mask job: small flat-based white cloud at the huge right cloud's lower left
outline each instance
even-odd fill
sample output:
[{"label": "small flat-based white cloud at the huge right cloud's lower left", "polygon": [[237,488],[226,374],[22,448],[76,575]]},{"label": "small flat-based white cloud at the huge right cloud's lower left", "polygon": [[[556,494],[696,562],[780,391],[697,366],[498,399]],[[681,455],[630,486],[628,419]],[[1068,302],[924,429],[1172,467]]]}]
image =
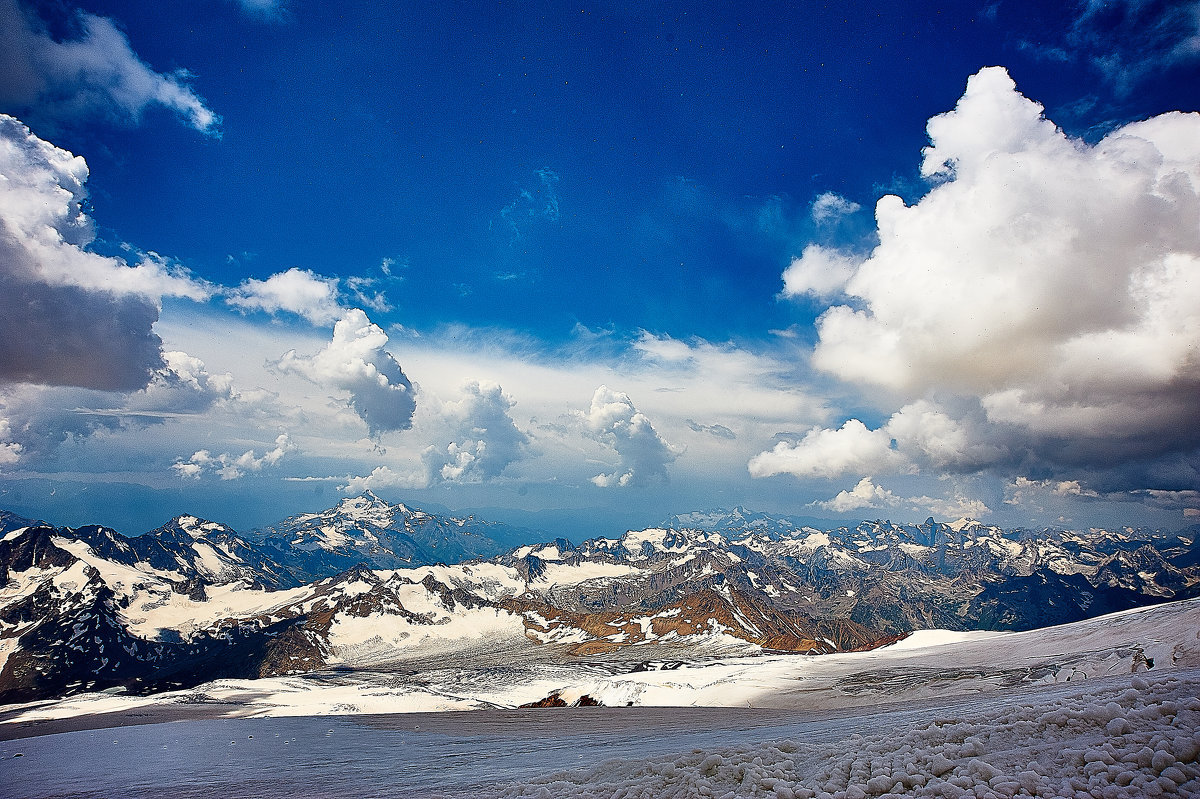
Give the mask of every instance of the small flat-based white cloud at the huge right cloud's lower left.
[{"label": "small flat-based white cloud at the huge right cloud's lower left", "polygon": [[857,419],[839,429],[814,427],[799,441],[780,441],[749,463],[750,474],[767,477],[791,474],[797,477],[839,477],[846,474],[877,474],[901,470],[906,458],[892,447],[886,431],[869,429]]}]

